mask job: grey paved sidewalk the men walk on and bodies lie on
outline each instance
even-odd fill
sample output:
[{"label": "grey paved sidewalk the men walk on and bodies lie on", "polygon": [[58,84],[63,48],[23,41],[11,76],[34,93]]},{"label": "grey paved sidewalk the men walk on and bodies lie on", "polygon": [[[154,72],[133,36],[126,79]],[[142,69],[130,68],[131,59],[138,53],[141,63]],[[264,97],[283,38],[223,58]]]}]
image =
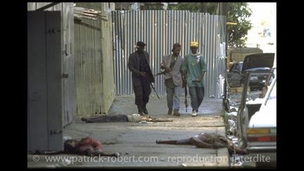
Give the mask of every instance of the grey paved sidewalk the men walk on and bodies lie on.
[{"label": "grey paved sidewalk the men walk on and bodies lie on", "polygon": [[[197,148],[191,145],[156,144],[157,139],[186,139],[200,132],[224,135],[224,121],[220,117],[221,99],[204,99],[198,116],[191,117],[181,100],[181,116],[167,115],[165,96],[151,97],[149,115],[172,118],[173,122],[111,122],[76,123],[65,127],[64,135],[73,139],[93,137],[103,144],[105,152],[121,154],[120,158],[84,158],[83,156],[58,155],[62,161],[46,162],[46,156],[28,155],[28,167],[229,167],[227,148]],[[137,113],[134,96],[117,96],[110,115]]]}]

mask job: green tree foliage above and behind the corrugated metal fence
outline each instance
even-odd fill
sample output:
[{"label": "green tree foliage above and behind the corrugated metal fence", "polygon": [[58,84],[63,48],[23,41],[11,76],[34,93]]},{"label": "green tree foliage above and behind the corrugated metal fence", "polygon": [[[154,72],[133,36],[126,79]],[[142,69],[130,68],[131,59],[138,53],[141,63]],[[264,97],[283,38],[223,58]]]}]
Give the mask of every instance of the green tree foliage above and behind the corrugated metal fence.
[{"label": "green tree foliage above and behind the corrugated metal fence", "polygon": [[[150,4],[146,9],[162,9],[162,5]],[[236,25],[227,25],[228,45],[230,47],[246,46],[248,30],[251,30],[252,24],[249,20],[251,9],[246,2],[235,3],[179,3],[168,6],[168,10],[189,10],[196,13],[210,13],[212,15],[226,15],[227,22],[236,23]]]}]

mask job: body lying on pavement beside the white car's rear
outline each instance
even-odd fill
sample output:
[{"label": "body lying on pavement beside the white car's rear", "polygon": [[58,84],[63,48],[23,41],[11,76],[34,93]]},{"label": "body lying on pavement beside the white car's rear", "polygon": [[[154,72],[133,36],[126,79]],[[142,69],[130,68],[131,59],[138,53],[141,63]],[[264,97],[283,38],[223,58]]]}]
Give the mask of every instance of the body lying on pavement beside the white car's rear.
[{"label": "body lying on pavement beside the white car's rear", "polygon": [[214,133],[201,133],[189,139],[156,140],[156,144],[189,144],[200,148],[227,147],[230,154],[247,154],[246,149],[240,148],[226,137]]}]

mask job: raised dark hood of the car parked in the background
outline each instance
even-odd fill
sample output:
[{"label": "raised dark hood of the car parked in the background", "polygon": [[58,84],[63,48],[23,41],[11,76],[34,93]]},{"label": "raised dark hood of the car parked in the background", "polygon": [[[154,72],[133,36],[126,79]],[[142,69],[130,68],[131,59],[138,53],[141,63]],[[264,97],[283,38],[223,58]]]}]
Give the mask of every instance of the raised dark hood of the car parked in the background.
[{"label": "raised dark hood of the car parked in the background", "polygon": [[272,68],[274,53],[258,53],[244,58],[242,72],[252,68]]}]

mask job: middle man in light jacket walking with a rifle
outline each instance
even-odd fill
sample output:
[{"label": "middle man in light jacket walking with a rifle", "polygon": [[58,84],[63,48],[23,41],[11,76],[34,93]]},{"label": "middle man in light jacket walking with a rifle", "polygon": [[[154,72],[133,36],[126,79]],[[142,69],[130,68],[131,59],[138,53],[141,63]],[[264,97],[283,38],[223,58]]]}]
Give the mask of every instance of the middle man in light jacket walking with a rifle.
[{"label": "middle man in light jacket walking with a rifle", "polygon": [[181,50],[180,44],[173,44],[172,53],[163,57],[163,63],[160,68],[165,70],[165,87],[167,92],[168,115],[179,116],[179,96],[182,91],[182,63],[184,59],[179,56]]}]

